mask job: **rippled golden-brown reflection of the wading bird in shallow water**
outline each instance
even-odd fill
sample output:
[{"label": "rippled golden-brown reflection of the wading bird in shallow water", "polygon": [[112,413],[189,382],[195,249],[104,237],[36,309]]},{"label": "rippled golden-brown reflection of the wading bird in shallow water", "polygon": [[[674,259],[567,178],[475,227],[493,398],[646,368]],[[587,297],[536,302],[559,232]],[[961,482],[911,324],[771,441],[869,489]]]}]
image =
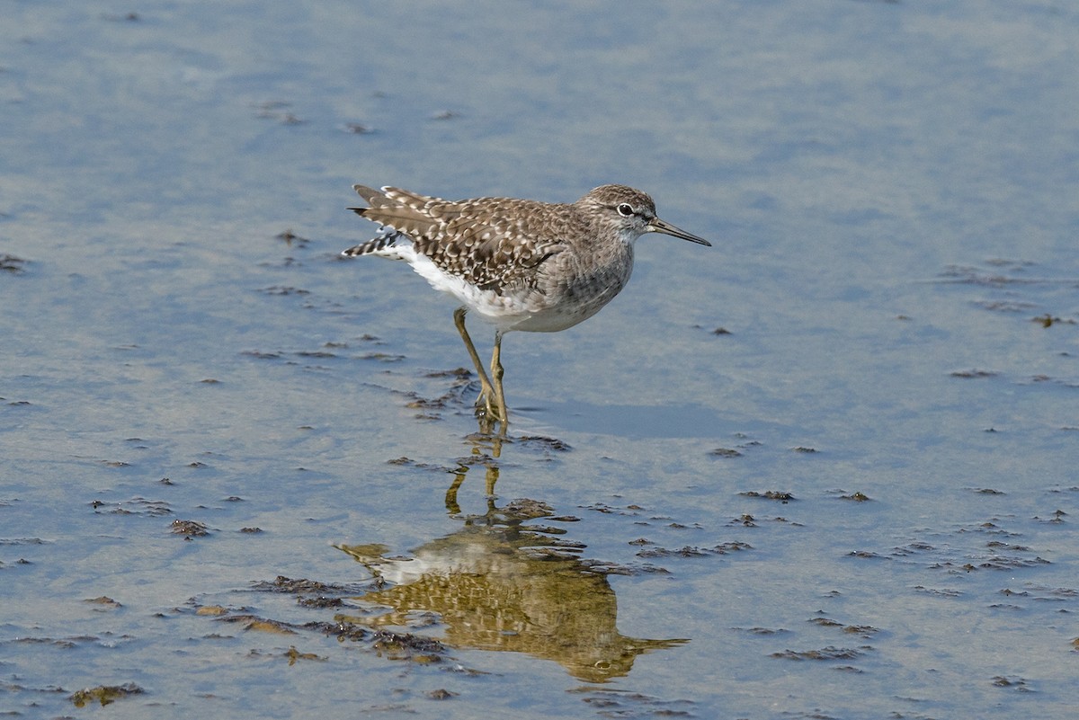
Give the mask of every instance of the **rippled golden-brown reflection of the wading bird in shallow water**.
[{"label": "rippled golden-brown reflection of the wading bird in shallow water", "polygon": [[[420,612],[440,615],[453,647],[524,652],[554,660],[590,682],[630,671],[637,655],[685,642],[618,633],[617,600],[606,572],[577,556],[584,545],[564,530],[535,524],[552,509],[535,500],[497,507],[496,458],[503,437],[472,439],[476,461],[462,465],[447,493],[447,509],[464,525],[409,557],[386,557],[383,545],[340,545],[384,584],[359,598],[388,608],[339,621],[408,626]],[[472,468],[483,467],[487,512],[461,516],[456,494]]]}]

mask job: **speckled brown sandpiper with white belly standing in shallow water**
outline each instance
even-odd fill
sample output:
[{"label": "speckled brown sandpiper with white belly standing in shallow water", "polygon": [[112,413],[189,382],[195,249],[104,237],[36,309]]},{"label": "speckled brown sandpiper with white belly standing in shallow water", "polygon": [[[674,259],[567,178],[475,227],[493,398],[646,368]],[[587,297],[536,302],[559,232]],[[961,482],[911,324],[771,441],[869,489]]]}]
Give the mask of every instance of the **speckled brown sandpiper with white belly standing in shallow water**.
[{"label": "speckled brown sandpiper with white belly standing in shallow water", "polygon": [[[347,209],[380,227],[373,239],[341,255],[402,260],[461,303],[453,322],[479,376],[477,414],[504,426],[505,333],[557,332],[596,315],[626,287],[633,244],[645,233],[712,245],[660,220],[652,197],[620,184],[600,185],[574,203],[447,200],[392,186],[353,190],[368,207]],[[469,311],[495,328],[490,376],[465,328]]]}]

